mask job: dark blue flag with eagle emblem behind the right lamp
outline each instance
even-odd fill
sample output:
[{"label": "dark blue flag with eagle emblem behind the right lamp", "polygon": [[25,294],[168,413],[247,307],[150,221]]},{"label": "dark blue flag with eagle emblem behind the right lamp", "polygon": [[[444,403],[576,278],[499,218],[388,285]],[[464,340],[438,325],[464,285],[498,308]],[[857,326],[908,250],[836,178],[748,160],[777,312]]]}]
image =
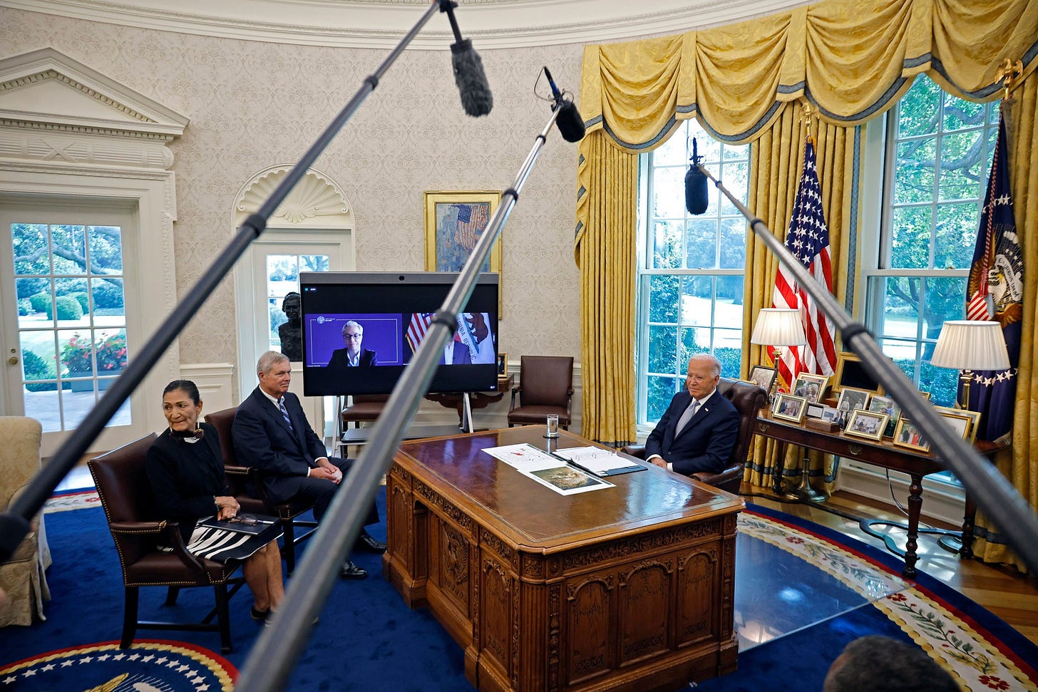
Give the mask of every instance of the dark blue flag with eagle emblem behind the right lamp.
[{"label": "dark blue flag with eagle emblem behind the right lamp", "polygon": [[[977,370],[969,383],[969,410],[980,411],[977,437],[1008,440],[1013,428],[1016,367],[1020,361],[1023,316],[1023,255],[1009,191],[1006,122],[999,120],[999,140],[991,161],[980,229],[966,280],[966,320],[994,320],[1002,325],[1009,351],[1007,370]],[[961,400],[961,387],[959,400]]]}]

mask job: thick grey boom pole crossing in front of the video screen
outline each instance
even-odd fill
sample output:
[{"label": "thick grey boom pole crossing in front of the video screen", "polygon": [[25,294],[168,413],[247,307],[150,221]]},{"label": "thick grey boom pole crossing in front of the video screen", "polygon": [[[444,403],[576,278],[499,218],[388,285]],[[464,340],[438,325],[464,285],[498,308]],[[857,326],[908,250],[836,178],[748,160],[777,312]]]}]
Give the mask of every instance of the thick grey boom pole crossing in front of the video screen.
[{"label": "thick grey boom pole crossing in front of the video screen", "polygon": [[414,358],[393,387],[389,400],[375,423],[371,441],[343,479],[317,533],[309,539],[310,545],[302,561],[289,580],[284,601],[274,616],[275,627],[264,628],[249,653],[238,679],[237,687],[240,689],[250,692],[284,689],[290,668],[299,658],[313,628],[313,618],[328,600],[343,561],[360,533],[360,524],[375,499],[382,476],[389,471],[392,455],[403,440],[404,428],[417,411],[421,395],[429,389],[443,347],[454,335],[458,325],[457,315],[472,295],[480,269],[515,206],[519,191],[557,117],[558,110],[552,110],[548,123],[537,136],[515,183],[501,194],[501,204],[494,212],[487,229],[472,249],[471,256],[433,317]]}]

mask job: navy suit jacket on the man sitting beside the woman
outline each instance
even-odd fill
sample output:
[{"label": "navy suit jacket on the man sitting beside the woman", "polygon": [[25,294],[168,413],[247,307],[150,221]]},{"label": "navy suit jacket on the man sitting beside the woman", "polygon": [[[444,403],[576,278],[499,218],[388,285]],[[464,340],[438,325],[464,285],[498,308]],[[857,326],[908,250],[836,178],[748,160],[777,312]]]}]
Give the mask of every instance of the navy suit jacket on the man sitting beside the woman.
[{"label": "navy suit jacket on the man sitting beside the woman", "polygon": [[277,406],[256,387],[238,407],[230,428],[239,463],[263,470],[264,486],[273,502],[296,495],[306,474],[317,467],[313,460],[328,455],[292,392],[284,395],[284,408],[292,420],[291,431]]}]

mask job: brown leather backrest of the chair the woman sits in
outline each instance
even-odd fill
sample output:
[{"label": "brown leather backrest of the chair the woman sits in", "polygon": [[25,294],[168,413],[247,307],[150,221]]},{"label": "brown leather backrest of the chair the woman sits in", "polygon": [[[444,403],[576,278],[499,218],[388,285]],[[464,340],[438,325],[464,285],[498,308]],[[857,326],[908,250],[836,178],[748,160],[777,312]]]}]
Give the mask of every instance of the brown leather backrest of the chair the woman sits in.
[{"label": "brown leather backrest of the chair the woman sits in", "polygon": [[[155,433],[145,435],[86,463],[93,476],[93,485],[98,488],[98,497],[105,508],[109,526],[158,519],[155,516],[152,485],[144,469],[147,450],[157,438]],[[119,552],[124,576],[130,565],[155,550],[156,536],[153,533],[144,533],[138,537],[129,532],[112,531],[112,538]]]}]

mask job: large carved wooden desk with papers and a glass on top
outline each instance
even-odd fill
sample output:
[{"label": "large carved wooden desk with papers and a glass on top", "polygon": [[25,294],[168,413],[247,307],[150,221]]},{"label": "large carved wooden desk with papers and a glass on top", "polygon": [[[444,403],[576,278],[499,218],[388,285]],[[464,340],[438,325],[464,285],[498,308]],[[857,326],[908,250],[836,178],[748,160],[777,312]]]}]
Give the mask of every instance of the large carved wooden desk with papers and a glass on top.
[{"label": "large carved wooden desk with papers and a glass on top", "polygon": [[[677,690],[735,670],[743,501],[655,467],[559,495],[486,447],[543,425],[401,446],[383,573],[464,648],[480,690]],[[557,447],[591,444],[562,432]]]}]

